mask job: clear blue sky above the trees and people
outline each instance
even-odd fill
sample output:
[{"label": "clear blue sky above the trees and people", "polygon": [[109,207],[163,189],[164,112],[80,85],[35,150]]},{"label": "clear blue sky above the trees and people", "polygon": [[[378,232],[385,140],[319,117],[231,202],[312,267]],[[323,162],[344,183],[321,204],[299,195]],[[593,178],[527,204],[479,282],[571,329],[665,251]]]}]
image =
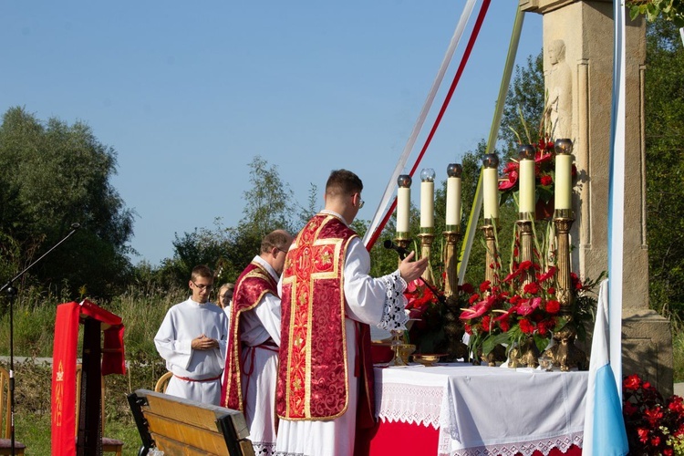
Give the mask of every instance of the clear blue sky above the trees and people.
[{"label": "clear blue sky above the trees and people", "polygon": [[[454,54],[409,171],[451,84]],[[120,1],[0,4],[0,110],[82,120],[118,152],[131,241],[159,264],[174,233],[234,226],[260,155],[306,205],[331,170],[364,181],[371,219],[440,67],[464,0]],[[489,135],[516,0],[493,0],[419,168],[446,179]],[[516,63],[542,47],[527,14]],[[414,195],[418,192],[414,192]],[[320,202],[322,205],[322,197]]]}]

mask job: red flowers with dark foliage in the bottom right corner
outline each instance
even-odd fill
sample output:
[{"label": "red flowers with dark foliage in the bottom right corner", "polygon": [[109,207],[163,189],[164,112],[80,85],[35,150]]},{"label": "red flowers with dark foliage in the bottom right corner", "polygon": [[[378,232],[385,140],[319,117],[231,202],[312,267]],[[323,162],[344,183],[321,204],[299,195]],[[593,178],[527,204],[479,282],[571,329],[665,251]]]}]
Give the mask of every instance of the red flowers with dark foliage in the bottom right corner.
[{"label": "red flowers with dark foliage in the bottom right corner", "polygon": [[664,400],[638,375],[622,382],[622,415],[630,454],[684,455],[684,401]]}]

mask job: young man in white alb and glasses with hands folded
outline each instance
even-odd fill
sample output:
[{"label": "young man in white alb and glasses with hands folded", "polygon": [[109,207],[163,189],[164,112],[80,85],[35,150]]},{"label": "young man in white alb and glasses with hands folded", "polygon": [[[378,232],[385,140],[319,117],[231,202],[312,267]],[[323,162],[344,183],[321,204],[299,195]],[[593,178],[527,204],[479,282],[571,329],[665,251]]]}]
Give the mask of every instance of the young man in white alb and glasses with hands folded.
[{"label": "young man in white alb and glasses with hands folded", "polygon": [[219,405],[228,319],[221,307],[209,302],[213,273],[208,266],[195,266],[188,285],[192,296],[169,309],[154,337],[173,373],[166,393]]}]

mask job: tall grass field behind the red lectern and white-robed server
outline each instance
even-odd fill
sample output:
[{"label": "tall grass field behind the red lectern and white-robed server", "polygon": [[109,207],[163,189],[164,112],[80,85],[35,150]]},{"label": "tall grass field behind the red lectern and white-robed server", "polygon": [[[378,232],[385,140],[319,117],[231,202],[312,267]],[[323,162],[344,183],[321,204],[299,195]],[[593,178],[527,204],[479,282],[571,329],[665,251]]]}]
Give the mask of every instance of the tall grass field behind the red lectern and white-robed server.
[{"label": "tall grass field behind the red lectern and white-robed server", "polygon": [[[28,295],[15,306],[15,356],[50,358],[55,308],[61,301],[53,296]],[[126,326],[129,369],[126,376],[106,378],[105,436],[123,440],[126,456],[137,455],[140,449],[140,437],[126,397],[136,389],[154,389],[157,379],[166,371],[154,348],[153,337],[167,309],[186,297],[185,290],[181,289],[131,287],[129,292],[107,306],[109,311],[122,317]],[[9,318],[5,311],[5,315],[0,316],[0,341],[8,340]],[[673,328],[673,351],[675,381],[684,381],[684,334],[679,327]],[[0,343],[0,355],[8,354],[7,342]],[[50,453],[51,369],[50,365],[32,359],[15,363],[16,440],[26,444],[26,455]]]}]

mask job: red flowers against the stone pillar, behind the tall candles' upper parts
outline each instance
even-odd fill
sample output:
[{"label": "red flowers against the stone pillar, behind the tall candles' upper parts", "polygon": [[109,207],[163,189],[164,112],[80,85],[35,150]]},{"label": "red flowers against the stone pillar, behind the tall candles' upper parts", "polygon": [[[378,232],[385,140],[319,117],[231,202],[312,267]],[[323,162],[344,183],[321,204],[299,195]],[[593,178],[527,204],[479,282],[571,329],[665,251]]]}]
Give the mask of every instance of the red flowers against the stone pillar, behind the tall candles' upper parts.
[{"label": "red flowers against the stone pillar, behind the tall candles' upper parts", "polygon": [[[549,203],[554,197],[555,182],[555,151],[554,140],[543,138],[534,144],[534,176],[536,201]],[[573,178],[577,175],[577,169],[573,164]],[[503,168],[504,179],[499,182],[501,203],[505,202],[513,193],[518,192],[520,187],[518,177],[520,163],[517,160],[509,161]]]}]

